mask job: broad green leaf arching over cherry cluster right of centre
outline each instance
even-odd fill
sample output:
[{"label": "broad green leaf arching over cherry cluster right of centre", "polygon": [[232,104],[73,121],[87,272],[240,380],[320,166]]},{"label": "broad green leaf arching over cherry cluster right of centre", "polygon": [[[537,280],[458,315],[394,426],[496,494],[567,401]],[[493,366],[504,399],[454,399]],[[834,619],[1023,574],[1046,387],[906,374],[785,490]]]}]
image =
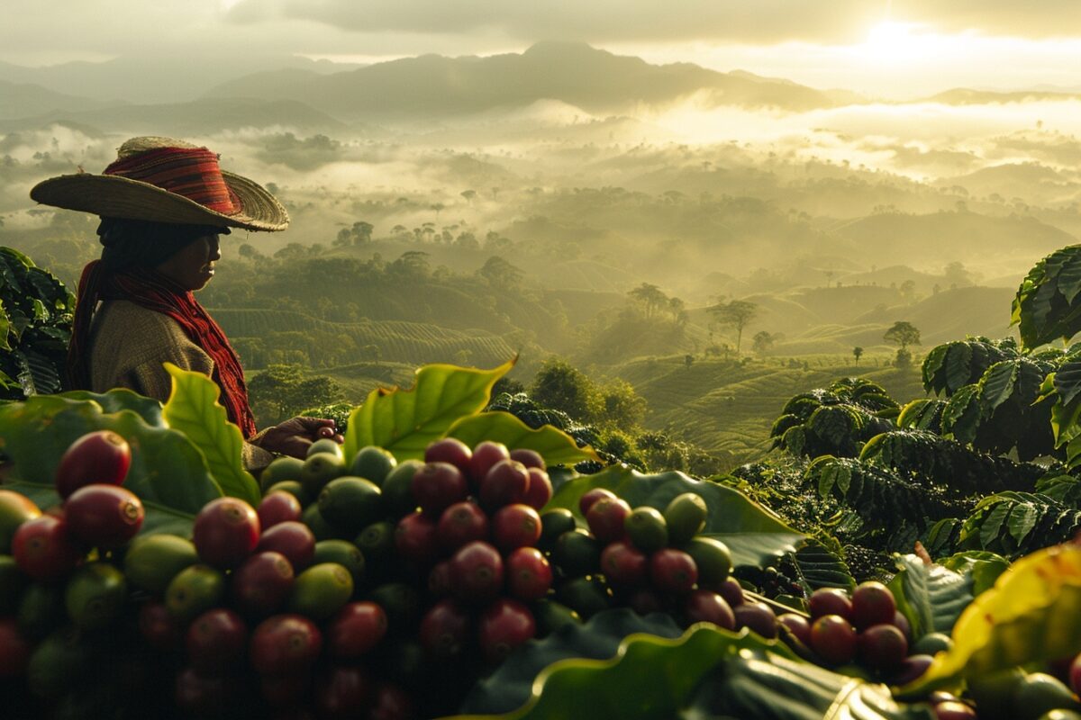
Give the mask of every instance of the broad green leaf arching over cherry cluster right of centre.
[{"label": "broad green leaf arching over cherry cluster right of centre", "polygon": [[702,534],[729,546],[736,565],[761,565],[783,553],[795,552],[805,535],[789,528],[772,511],[758,505],[738,490],[717,483],[693,480],[683,473],[643,475],[626,466],[606,467],[564,483],[548,508],[565,507],[580,517],[578,499],[587,490],[604,488],[631,507],[650,505],[664,511],[672,498],[684,492],[702,495],[709,507]]}]

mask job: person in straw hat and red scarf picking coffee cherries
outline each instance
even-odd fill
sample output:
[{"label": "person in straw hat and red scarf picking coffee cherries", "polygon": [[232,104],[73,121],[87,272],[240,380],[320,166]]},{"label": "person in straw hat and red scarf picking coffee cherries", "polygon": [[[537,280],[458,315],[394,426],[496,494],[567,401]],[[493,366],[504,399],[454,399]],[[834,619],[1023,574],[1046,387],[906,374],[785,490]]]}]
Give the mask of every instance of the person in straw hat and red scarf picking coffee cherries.
[{"label": "person in straw hat and red scarf picking coffee cherries", "polygon": [[50,178],[30,198],[102,218],[102,257],[79,281],[67,362],[72,389],[128,388],[165,402],[172,380],[164,363],[203,372],[240,427],[250,471],[268,465],[273,453],[304,458],[320,437],[342,440],[334,421],[322,418],[292,418],[256,432],[240,358],[193,295],[214,277],[219,237],[230,228],[289,227],[289,214],[266,189],[221,169],[206,148],[135,137],[101,175],[80,168]]}]

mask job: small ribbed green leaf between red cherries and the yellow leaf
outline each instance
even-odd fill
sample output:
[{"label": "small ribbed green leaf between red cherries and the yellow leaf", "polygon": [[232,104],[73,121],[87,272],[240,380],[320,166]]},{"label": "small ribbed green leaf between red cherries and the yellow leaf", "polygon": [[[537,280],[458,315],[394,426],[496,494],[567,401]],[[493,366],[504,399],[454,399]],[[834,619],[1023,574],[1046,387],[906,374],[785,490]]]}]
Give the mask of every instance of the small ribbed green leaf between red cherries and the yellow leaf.
[{"label": "small ribbed green leaf between red cherries and the yellow leaf", "polygon": [[912,625],[912,637],[949,633],[972,602],[972,579],[942,565],[925,565],[917,555],[896,558],[897,574],[890,582],[897,609]]}]

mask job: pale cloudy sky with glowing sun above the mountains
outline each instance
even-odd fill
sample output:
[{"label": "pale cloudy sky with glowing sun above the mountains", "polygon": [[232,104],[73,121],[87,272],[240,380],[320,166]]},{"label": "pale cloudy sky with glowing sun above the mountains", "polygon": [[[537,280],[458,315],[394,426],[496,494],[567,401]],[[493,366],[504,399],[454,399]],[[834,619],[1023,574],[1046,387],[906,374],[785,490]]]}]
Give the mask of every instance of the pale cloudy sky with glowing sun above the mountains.
[{"label": "pale cloudy sky with glowing sun above the mountains", "polygon": [[[375,63],[578,40],[884,98],[1081,91],[1081,0],[0,0],[0,60],[283,52]],[[57,19],[61,18],[61,19]]]}]

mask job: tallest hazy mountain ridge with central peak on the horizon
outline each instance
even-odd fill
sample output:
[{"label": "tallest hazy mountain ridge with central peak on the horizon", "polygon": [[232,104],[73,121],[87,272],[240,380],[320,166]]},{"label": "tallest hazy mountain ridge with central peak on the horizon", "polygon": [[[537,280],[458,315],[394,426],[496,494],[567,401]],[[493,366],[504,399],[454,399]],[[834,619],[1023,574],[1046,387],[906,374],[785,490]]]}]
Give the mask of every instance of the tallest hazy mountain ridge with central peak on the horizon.
[{"label": "tallest hazy mountain ridge with central peak on the horizon", "polygon": [[343,119],[431,118],[560,100],[587,112],[663,105],[704,93],[713,105],[806,110],[836,105],[787,81],[696,65],[650,65],[585,43],[542,42],[521,54],[422,55],[324,77],[261,72],[222,83],[211,97],[288,97]]}]

